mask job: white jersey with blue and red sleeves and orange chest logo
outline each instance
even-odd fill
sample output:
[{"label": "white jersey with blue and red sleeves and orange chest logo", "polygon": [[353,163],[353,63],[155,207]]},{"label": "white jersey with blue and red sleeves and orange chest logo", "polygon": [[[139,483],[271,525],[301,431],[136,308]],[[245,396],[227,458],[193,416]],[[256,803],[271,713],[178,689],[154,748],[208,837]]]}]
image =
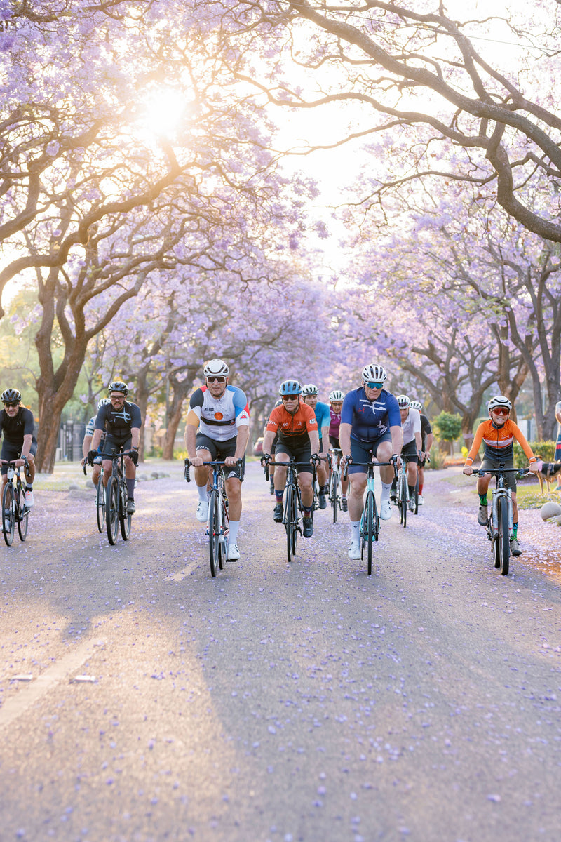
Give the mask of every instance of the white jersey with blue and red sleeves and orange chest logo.
[{"label": "white jersey with blue and red sleeves and orange chest logo", "polygon": [[238,427],[249,424],[246,393],[228,385],[221,397],[213,397],[207,386],[200,386],[189,400],[187,423],[213,441],[235,439]]}]

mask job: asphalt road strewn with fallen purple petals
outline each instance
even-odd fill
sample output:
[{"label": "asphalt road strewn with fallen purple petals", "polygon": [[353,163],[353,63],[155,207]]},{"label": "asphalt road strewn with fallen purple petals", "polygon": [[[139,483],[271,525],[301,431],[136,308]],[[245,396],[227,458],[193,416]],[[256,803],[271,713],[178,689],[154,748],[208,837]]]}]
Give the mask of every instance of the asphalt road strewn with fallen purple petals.
[{"label": "asphalt road strewn with fallen purple petals", "polygon": [[127,543],[44,491],[0,548],[2,842],[561,838],[559,565],[501,577],[473,484],[429,473],[368,577],[329,511],[288,565],[253,463],[213,579],[168,470]]}]

